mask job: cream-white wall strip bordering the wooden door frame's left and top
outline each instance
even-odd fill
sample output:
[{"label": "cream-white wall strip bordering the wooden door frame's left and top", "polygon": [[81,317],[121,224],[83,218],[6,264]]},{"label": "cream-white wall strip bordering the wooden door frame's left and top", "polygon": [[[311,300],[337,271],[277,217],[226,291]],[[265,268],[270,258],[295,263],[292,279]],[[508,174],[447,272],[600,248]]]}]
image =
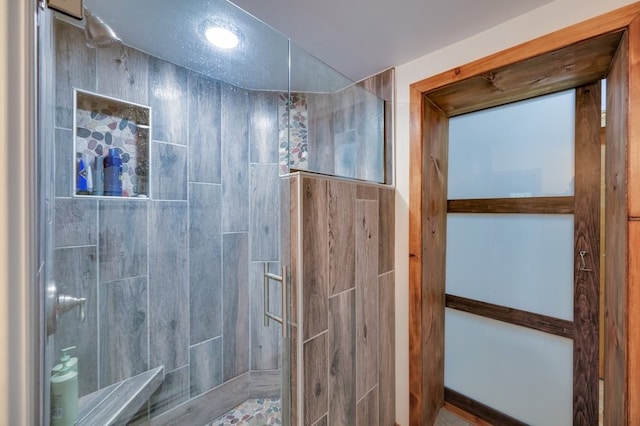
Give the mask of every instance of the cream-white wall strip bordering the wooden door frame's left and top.
[{"label": "cream-white wall strip bordering the wooden door frame's left and top", "polygon": [[396,421],[409,426],[409,85],[633,0],[556,0],[396,67]]}]

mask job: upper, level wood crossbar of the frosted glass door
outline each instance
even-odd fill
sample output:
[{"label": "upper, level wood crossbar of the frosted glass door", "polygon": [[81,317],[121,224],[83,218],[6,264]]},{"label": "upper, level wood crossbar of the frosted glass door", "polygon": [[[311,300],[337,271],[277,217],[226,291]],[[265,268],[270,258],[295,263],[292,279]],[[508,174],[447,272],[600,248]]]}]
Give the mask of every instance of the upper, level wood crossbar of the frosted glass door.
[{"label": "upper, level wood crossbar of the frosted glass door", "polygon": [[571,214],[574,197],[477,198],[448,200],[448,213]]}]

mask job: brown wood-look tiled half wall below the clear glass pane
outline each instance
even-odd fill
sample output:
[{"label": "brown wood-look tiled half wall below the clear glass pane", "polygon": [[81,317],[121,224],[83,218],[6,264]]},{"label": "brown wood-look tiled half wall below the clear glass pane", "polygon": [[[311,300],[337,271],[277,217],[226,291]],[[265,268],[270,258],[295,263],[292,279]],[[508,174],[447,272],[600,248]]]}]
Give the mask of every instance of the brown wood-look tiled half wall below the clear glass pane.
[{"label": "brown wood-look tiled half wall below the clear glass pane", "polygon": [[394,189],[306,173],[286,184],[294,419],[394,425]]}]

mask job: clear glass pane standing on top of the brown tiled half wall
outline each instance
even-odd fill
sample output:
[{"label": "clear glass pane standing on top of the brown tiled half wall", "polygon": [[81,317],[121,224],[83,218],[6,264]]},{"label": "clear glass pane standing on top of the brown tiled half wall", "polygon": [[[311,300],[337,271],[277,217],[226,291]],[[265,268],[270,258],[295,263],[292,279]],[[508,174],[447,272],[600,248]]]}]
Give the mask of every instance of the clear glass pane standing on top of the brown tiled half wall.
[{"label": "clear glass pane standing on top of the brown tiled half wall", "polygon": [[384,182],[384,100],[291,44],[293,170]]}]

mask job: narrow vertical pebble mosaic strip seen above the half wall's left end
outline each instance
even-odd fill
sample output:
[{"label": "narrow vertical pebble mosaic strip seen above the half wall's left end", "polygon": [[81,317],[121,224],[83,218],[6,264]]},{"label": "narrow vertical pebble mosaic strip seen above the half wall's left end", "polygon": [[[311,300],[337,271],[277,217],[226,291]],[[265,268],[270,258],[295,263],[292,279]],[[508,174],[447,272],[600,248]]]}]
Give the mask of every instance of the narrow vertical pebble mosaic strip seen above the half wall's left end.
[{"label": "narrow vertical pebble mosaic strip seen above the half wall's left end", "polygon": [[[291,120],[289,120],[291,116]],[[286,93],[278,97],[278,130],[280,139],[280,172],[308,169],[307,98],[302,93]]]}]

